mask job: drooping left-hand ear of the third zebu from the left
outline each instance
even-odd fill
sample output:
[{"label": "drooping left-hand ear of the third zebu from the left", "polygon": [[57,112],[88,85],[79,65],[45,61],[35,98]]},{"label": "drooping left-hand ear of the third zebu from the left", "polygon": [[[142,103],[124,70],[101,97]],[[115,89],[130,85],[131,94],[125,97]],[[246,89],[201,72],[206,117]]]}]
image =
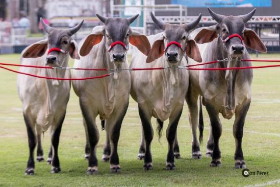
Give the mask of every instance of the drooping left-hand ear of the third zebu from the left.
[{"label": "drooping left-hand ear of the third zebu from the left", "polygon": [[164,41],[163,36],[160,36],[152,45],[149,51],[146,63],[150,63],[164,54]]}]

